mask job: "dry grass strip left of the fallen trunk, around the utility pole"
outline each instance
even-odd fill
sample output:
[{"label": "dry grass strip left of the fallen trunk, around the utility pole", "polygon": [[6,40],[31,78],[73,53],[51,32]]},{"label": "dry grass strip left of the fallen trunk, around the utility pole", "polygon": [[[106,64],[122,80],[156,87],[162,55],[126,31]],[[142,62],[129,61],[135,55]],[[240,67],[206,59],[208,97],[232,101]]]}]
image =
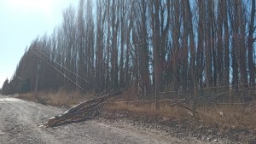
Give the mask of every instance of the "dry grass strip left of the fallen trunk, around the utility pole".
[{"label": "dry grass strip left of the fallen trunk, around the utility pole", "polygon": [[23,95],[17,95],[16,97],[24,99],[26,101],[35,101],[45,105],[52,106],[73,106],[81,101],[88,100],[93,95],[82,95],[79,91],[67,91],[65,89],[59,89],[56,92],[38,92],[27,93]]}]

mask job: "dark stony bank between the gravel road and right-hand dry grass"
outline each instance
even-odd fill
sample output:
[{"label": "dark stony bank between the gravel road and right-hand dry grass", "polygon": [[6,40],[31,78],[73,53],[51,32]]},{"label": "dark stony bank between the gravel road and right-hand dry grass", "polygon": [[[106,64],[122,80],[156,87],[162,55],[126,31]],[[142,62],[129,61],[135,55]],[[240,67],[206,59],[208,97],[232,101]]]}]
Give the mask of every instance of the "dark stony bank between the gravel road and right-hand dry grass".
[{"label": "dark stony bank between the gravel road and right-hand dry grass", "polygon": [[[103,111],[102,121],[109,124],[136,125],[138,130],[157,130],[158,134],[170,135],[181,140],[210,143],[256,144],[256,130],[230,128],[218,124],[206,124],[195,119],[165,119],[143,113]],[[101,119],[101,118],[100,118]]]}]

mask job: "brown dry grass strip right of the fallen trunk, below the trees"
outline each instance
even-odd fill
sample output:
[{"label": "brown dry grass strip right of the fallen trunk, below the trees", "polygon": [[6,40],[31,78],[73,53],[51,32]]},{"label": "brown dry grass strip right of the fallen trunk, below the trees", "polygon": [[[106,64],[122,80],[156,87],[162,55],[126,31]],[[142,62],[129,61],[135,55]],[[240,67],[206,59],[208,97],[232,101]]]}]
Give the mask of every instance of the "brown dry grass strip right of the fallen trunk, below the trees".
[{"label": "brown dry grass strip right of the fallen trunk, below the trees", "polygon": [[[170,107],[171,104],[166,101],[160,102],[159,109],[156,109],[154,101],[143,102],[123,102],[114,101],[108,103],[108,110],[121,110],[134,113],[146,113],[152,116],[159,116],[166,120],[172,118],[178,119],[196,119],[207,124],[219,124],[220,126],[230,128],[246,128],[256,130],[256,106],[251,105],[214,105],[197,107],[196,118],[192,112],[183,107]],[[189,107],[189,106],[188,106]]]}]

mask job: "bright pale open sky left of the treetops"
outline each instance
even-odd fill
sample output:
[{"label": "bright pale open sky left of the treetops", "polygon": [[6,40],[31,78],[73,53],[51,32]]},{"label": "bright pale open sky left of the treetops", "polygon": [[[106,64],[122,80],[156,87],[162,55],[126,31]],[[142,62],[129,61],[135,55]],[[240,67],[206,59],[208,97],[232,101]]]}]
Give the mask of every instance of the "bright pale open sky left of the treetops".
[{"label": "bright pale open sky left of the treetops", "polygon": [[0,88],[36,37],[61,25],[62,10],[79,0],[0,0]]}]

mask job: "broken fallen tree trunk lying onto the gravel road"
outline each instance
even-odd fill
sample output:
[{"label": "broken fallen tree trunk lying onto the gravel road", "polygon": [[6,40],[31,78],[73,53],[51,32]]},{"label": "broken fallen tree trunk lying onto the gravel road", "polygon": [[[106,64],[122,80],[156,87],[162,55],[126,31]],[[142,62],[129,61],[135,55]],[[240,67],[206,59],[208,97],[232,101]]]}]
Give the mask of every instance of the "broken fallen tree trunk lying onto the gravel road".
[{"label": "broken fallen tree trunk lying onto the gravel road", "polygon": [[55,127],[62,124],[76,123],[90,118],[95,118],[100,113],[100,109],[108,96],[90,99],[74,106],[59,116],[49,118],[46,127]]}]

